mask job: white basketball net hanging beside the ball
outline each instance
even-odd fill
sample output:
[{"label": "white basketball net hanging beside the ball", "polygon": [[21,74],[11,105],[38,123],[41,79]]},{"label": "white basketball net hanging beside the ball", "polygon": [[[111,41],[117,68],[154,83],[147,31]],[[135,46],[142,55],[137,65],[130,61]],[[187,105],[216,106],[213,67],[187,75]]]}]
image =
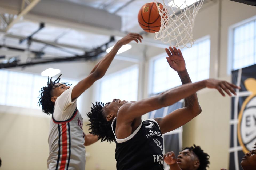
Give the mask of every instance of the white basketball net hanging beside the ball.
[{"label": "white basketball net hanging beside the ball", "polygon": [[191,48],[194,44],[193,27],[195,16],[204,0],[155,0],[161,16],[161,28],[155,33],[155,40],[161,40],[172,46]]}]

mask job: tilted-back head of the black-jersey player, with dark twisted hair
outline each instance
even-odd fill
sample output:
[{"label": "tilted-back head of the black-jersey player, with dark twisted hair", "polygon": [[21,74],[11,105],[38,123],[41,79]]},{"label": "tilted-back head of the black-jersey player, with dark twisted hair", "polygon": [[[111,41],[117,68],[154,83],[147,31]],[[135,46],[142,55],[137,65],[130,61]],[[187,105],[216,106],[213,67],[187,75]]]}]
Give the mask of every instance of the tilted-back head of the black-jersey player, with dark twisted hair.
[{"label": "tilted-back head of the black-jersey player, with dark twisted hair", "polygon": [[114,142],[115,136],[112,131],[111,124],[119,108],[126,103],[125,100],[113,99],[112,102],[105,105],[101,102],[96,102],[91,107],[91,111],[87,113],[89,121],[91,122],[89,130],[91,134],[97,135],[101,142],[107,140],[107,142]]}]

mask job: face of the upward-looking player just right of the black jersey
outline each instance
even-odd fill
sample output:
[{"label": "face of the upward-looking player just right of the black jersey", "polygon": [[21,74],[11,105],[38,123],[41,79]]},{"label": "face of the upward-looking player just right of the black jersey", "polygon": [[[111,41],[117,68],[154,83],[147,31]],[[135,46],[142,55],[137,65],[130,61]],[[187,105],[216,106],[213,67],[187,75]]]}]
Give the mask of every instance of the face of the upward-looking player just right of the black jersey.
[{"label": "face of the upward-looking player just right of the black jersey", "polygon": [[198,158],[188,149],[179,152],[177,157],[177,163],[182,170],[196,169],[196,161],[198,162]]}]

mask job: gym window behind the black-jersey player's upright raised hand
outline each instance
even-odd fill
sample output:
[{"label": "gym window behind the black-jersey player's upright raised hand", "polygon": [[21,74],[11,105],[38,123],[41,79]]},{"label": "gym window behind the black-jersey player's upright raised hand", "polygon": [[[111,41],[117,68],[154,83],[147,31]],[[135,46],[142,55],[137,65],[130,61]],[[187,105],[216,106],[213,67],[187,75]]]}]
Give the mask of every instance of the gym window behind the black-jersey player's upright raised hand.
[{"label": "gym window behind the black-jersey player's upright raised hand", "polygon": [[[210,69],[210,37],[197,40],[192,48],[181,49],[186,62],[186,68],[192,82],[209,78]],[[153,58],[153,73],[151,75],[150,94],[157,94],[167,89],[181,85],[181,80],[176,71],[167,63],[166,53]]]}]

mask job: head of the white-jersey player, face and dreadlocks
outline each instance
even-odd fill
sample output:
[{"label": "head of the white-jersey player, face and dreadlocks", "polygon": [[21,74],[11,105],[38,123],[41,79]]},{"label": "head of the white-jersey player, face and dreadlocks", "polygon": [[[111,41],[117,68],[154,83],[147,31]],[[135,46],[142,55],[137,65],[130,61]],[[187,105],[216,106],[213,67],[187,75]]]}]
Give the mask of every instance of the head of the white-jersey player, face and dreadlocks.
[{"label": "head of the white-jersey player, face and dreadlocks", "polygon": [[39,95],[38,104],[42,106],[43,112],[48,115],[53,112],[54,103],[57,97],[59,97],[65,90],[69,89],[71,85],[69,83],[59,83],[61,80],[60,77],[61,74],[54,81],[52,81],[53,77],[50,79],[48,77],[47,86],[42,87],[40,90],[41,94]]}]

